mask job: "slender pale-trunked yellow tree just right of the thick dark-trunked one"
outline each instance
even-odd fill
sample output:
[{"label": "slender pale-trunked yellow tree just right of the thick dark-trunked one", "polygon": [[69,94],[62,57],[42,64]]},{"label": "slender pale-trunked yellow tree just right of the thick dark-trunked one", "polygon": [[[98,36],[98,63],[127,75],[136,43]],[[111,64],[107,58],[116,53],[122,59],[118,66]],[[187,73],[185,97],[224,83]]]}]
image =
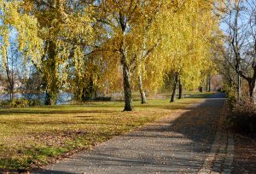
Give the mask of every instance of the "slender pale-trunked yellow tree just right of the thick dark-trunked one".
[{"label": "slender pale-trunked yellow tree just right of the thick dark-trunked one", "polygon": [[[138,90],[141,96],[141,103],[147,103],[147,98],[144,90],[144,83],[148,87],[148,90],[157,89],[161,83],[159,80],[162,79],[161,74],[163,71],[163,66],[157,65],[157,61],[160,61],[160,57],[157,56],[159,52],[157,49],[161,42],[161,35],[159,32],[159,22],[160,13],[163,7],[163,1],[155,1],[153,5],[147,5],[148,2],[143,2],[141,7],[142,15],[144,20],[141,21],[140,26],[136,27],[134,30],[137,34],[135,37],[137,39],[137,44],[135,44],[135,49],[131,49],[134,56],[136,57],[136,62],[134,64],[137,70],[137,84]],[[153,64],[157,65],[160,70],[158,73]],[[163,63],[163,62],[162,62]],[[154,72],[154,77],[150,78],[150,73]],[[161,73],[160,73],[161,72]],[[160,76],[158,77],[159,74]],[[149,84],[149,85],[147,85]],[[153,84],[153,85],[150,85]],[[158,84],[158,85],[155,85]]]}]

